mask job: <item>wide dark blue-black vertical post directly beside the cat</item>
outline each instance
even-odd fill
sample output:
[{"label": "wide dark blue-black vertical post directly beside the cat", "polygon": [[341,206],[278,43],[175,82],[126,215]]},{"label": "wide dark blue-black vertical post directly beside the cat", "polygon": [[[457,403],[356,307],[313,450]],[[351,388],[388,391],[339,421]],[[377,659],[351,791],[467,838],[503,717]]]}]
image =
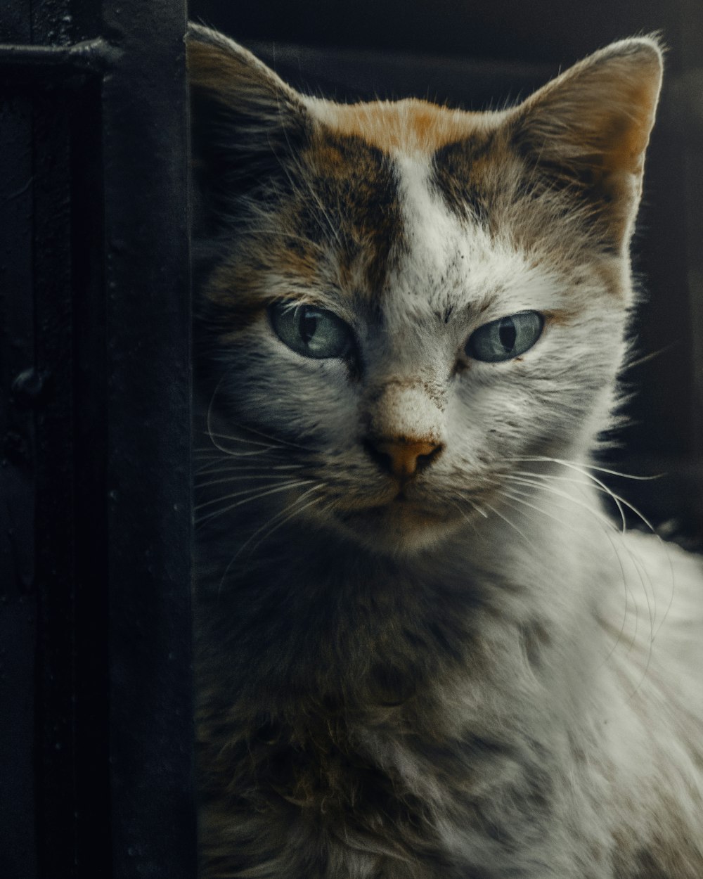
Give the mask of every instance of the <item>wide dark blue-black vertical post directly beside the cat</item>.
[{"label": "wide dark blue-black vertical post directly beside the cat", "polygon": [[192,879],[185,4],[103,4],[113,875]]}]

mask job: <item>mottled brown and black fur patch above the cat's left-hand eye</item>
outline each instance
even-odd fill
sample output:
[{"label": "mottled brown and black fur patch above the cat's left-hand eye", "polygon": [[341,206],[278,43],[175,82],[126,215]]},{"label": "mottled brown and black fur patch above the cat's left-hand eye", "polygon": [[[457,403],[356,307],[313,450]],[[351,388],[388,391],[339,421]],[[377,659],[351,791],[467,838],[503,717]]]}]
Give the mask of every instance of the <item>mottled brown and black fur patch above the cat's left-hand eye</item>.
[{"label": "mottled brown and black fur patch above the cat's left-hand eye", "polygon": [[[300,155],[281,156],[280,167],[285,185],[272,191],[255,222],[243,223],[207,285],[227,339],[281,295],[324,307],[333,292],[352,297],[355,309],[375,309],[402,247],[395,174],[379,149],[321,127]],[[272,276],[283,290],[272,288]]]}]

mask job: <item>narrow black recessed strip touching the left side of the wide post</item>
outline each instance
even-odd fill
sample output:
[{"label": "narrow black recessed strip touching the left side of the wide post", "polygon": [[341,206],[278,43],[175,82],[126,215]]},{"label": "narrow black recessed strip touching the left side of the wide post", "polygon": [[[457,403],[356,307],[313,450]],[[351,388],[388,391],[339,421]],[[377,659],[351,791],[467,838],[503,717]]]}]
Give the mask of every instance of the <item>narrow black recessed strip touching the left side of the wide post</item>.
[{"label": "narrow black recessed strip touching the left side of the wide post", "polygon": [[[72,101],[70,252],[73,388],[71,424],[75,558],[72,653],[75,774],[73,874],[112,875],[109,773],[105,288],[102,266],[101,83]],[[99,807],[96,808],[96,803]]]}]

